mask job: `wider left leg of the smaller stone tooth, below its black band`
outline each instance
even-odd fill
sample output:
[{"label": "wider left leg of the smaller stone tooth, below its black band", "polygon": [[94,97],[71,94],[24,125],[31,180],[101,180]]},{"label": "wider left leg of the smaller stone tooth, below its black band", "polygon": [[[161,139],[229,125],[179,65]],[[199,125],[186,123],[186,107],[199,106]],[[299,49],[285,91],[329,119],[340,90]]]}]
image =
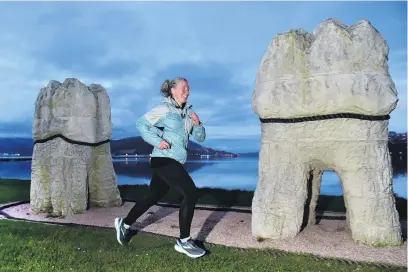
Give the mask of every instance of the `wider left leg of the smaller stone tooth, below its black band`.
[{"label": "wider left leg of the smaller stone tooth, below its black band", "polygon": [[36,212],[55,216],[87,208],[88,165],[92,147],[55,138],[34,146],[30,204]]}]

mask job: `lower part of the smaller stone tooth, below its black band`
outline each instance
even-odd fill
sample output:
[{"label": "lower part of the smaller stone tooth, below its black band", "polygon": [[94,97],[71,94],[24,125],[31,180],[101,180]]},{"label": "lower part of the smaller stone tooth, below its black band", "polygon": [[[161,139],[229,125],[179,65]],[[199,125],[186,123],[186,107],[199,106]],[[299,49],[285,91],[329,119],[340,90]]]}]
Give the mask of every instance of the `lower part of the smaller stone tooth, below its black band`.
[{"label": "lower part of the smaller stone tooth, below its black band", "polygon": [[55,138],[34,146],[30,192],[33,212],[53,216],[83,213],[88,195],[91,206],[122,203],[109,143],[91,147]]}]

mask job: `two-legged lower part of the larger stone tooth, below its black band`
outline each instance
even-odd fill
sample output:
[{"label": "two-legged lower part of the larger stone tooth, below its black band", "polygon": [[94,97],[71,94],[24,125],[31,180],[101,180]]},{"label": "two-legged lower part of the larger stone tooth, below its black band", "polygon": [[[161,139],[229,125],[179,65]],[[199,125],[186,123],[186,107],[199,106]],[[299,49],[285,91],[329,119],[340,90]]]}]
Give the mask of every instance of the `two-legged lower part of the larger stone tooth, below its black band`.
[{"label": "two-legged lower part of the larger stone tooth, below its black band", "polygon": [[388,121],[356,119],[262,124],[259,181],[252,203],[253,235],[272,239],[296,236],[308,194],[313,216],[321,172],[333,170],[342,183],[354,241],[400,245],[387,127]]}]

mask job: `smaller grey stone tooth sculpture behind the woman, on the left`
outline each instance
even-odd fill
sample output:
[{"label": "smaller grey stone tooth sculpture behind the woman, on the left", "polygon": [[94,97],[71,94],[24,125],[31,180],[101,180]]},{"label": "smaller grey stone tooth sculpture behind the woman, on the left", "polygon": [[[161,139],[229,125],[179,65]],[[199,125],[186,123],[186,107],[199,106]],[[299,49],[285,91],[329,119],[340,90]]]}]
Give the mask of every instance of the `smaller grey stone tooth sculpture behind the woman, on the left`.
[{"label": "smaller grey stone tooth sculpture behind the woman, on the left", "polygon": [[[97,143],[110,139],[112,123],[106,90],[76,79],[51,81],[37,98],[34,140],[61,134]],[[30,204],[55,216],[81,213],[89,206],[121,205],[110,144],[79,145],[54,138],[34,146]],[[88,204],[89,203],[89,204]]]}]

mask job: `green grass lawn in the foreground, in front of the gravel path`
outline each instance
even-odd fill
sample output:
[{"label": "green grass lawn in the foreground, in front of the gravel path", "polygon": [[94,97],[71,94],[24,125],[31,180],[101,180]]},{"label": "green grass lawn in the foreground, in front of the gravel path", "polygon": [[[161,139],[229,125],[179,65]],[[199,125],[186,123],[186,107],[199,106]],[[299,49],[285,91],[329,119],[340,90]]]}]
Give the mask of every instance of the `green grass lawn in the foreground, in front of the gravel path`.
[{"label": "green grass lawn in the foreground, in front of the gravel path", "polygon": [[[0,270],[8,271],[384,271],[365,264],[274,257],[266,251],[205,245],[210,254],[190,259],[174,240],[136,235],[120,246],[113,230],[0,220]],[[387,271],[405,271],[391,269]]]}]

